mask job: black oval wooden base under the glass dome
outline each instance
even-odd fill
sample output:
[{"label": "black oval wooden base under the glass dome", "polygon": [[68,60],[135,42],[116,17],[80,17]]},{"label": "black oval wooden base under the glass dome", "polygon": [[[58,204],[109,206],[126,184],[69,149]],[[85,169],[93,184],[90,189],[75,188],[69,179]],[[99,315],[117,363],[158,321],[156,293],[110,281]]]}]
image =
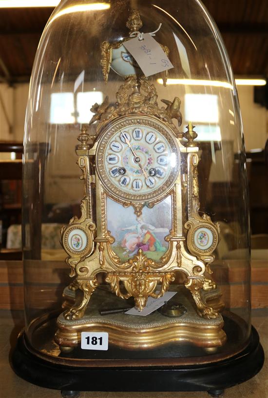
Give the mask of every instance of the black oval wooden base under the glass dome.
[{"label": "black oval wooden base under the glass dome", "polygon": [[54,364],[30,353],[20,335],[11,357],[15,373],[41,387],[61,390],[62,397],[79,391],[208,391],[220,397],[224,389],[255,376],[264,363],[257,331],[239,354],[218,362],[187,366],[74,367]]}]

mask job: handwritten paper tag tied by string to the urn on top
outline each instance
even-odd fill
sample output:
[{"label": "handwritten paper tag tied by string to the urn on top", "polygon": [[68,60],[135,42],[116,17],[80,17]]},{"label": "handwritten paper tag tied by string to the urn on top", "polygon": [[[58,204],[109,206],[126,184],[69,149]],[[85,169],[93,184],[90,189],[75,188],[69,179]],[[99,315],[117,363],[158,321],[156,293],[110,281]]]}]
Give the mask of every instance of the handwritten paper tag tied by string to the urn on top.
[{"label": "handwritten paper tag tied by string to the urn on top", "polygon": [[149,33],[143,35],[143,40],[136,37],[125,41],[124,46],[146,77],[173,68],[160,44]]}]

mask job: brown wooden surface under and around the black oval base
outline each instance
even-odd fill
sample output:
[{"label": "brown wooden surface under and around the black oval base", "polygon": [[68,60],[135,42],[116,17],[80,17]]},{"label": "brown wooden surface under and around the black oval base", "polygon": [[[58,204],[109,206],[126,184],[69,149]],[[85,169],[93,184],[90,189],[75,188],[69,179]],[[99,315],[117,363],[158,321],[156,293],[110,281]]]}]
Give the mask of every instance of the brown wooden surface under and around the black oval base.
[{"label": "brown wooden surface under and around the black oval base", "polygon": [[[60,398],[60,392],[30,384],[16,376],[9,365],[10,347],[23,327],[21,311],[0,311],[0,397],[1,398]],[[252,311],[252,324],[258,330],[268,357],[268,311]],[[119,389],[119,388],[118,388]],[[82,392],[81,398],[209,398],[206,392],[195,393],[103,393]],[[268,359],[261,372],[249,381],[226,390],[225,398],[268,398]]]}]

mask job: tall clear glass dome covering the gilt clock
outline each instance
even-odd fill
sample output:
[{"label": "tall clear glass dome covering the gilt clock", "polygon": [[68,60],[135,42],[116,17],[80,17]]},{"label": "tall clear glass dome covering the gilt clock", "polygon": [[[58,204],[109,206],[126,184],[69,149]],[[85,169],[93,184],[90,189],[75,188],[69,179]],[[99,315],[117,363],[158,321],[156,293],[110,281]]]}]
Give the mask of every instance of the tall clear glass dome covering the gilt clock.
[{"label": "tall clear glass dome covering the gilt clock", "polygon": [[[38,46],[24,148],[31,351],[85,366],[200,363],[247,345],[243,131],[230,61],[201,1],[62,0]],[[81,348],[91,331],[109,333],[108,350]]]}]

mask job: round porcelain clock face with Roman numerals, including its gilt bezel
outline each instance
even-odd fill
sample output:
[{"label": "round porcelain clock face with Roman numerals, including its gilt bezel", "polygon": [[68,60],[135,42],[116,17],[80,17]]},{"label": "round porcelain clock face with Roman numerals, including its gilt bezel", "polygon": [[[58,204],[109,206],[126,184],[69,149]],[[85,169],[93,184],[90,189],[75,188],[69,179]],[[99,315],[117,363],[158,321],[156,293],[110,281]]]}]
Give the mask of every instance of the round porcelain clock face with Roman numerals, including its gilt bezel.
[{"label": "round porcelain clock face with Roman numerals, including its gilt bezel", "polygon": [[102,135],[96,164],[104,186],[127,200],[150,200],[171,188],[179,149],[170,129],[152,117],[119,119]]}]

